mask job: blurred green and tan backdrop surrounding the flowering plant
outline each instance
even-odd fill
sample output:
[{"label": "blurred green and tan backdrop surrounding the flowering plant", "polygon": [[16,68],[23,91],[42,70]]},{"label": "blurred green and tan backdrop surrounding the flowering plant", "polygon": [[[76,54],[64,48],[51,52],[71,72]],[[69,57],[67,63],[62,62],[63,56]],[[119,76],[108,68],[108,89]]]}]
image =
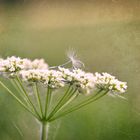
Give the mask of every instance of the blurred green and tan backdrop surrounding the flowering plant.
[{"label": "blurred green and tan backdrop surrounding the flowering plant", "polygon": [[[73,48],[86,70],[128,82],[126,100],[106,96],[54,122],[52,140],[140,140],[139,13],[139,0],[1,1],[1,57],[59,65]],[[39,124],[0,92],[0,140],[38,140]]]}]

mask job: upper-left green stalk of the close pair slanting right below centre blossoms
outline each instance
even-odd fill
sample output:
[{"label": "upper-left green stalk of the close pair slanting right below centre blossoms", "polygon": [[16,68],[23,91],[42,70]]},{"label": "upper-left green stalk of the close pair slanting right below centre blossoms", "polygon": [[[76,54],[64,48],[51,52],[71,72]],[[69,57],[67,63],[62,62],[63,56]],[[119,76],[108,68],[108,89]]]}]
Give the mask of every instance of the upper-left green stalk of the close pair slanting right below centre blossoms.
[{"label": "upper-left green stalk of the close pair slanting right below centre blossoms", "polygon": [[52,110],[52,112],[49,114],[49,116],[47,117],[47,120],[50,119],[55,112],[57,111],[57,109],[61,106],[61,104],[63,103],[63,101],[65,100],[65,98],[69,95],[69,93],[73,90],[70,90],[70,87],[68,87],[67,91],[65,92],[64,96],[58,101],[57,105],[54,107],[54,109]]}]

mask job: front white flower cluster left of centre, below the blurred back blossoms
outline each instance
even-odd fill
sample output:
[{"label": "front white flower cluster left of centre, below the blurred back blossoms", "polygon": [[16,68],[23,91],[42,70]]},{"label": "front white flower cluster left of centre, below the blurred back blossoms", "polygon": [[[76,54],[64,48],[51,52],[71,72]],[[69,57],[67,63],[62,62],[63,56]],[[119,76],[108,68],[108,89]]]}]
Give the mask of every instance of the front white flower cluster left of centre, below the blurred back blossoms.
[{"label": "front white flower cluster left of centre, below the blurred back blossoms", "polygon": [[25,82],[41,82],[51,88],[64,86],[62,73],[56,70],[22,70],[19,74]]}]

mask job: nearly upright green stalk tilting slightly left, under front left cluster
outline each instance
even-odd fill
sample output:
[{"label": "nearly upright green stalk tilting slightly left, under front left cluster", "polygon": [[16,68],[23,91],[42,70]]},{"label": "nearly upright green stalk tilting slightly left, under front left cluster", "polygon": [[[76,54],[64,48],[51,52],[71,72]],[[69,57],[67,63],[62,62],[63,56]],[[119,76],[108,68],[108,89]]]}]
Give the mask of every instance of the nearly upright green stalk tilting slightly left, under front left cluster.
[{"label": "nearly upright green stalk tilting slightly left, under front left cluster", "polygon": [[37,83],[35,83],[35,94],[36,94],[36,99],[37,99],[39,109],[41,112],[41,116],[43,117],[43,109],[42,109],[42,104],[41,104],[41,99],[40,99],[39,89],[38,89]]}]

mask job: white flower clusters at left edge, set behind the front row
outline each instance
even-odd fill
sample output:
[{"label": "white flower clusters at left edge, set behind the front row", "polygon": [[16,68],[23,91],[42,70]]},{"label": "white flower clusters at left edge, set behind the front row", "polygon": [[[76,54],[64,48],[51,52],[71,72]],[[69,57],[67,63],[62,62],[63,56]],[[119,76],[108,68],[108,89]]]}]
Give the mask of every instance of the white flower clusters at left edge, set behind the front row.
[{"label": "white flower clusters at left edge, set behind the front row", "polygon": [[20,57],[7,57],[6,59],[0,59],[0,73],[14,74],[20,70],[28,69],[48,69],[48,64],[44,59],[21,59]]}]

